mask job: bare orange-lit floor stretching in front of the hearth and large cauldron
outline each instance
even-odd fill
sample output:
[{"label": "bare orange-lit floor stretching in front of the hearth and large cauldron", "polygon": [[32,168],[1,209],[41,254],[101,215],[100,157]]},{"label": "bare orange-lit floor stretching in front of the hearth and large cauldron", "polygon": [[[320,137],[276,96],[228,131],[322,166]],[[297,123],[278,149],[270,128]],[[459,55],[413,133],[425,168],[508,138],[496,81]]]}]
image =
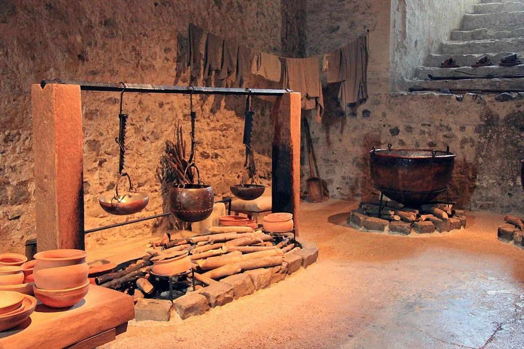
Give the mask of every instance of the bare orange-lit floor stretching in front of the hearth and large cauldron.
[{"label": "bare orange-lit floor stretching in front of the hearth and large cauldron", "polygon": [[524,250],[497,240],[502,215],[400,237],[350,228],[355,202],[301,204],[319,260],[283,282],[168,323],[129,323],[104,348],[524,346]]}]

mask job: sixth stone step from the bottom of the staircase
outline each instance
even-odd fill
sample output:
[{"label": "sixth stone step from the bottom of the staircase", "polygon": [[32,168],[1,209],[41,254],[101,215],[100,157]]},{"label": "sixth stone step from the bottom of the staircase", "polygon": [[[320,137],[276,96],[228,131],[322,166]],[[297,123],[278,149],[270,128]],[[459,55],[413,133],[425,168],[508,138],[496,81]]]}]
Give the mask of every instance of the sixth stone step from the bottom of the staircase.
[{"label": "sixth stone step from the bottom of the staircase", "polygon": [[489,28],[493,30],[514,30],[524,27],[524,11],[500,12],[497,14],[466,14],[462,19],[462,30]]}]

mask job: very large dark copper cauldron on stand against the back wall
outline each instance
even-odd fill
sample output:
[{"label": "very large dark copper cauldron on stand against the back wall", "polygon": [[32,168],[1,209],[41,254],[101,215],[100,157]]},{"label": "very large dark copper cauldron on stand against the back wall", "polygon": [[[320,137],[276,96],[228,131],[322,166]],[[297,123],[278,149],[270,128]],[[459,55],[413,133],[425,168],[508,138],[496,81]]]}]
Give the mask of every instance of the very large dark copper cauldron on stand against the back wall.
[{"label": "very large dark copper cauldron on stand against the back wall", "polygon": [[373,149],[369,167],[375,187],[406,206],[425,204],[451,181],[455,154],[427,149]]}]

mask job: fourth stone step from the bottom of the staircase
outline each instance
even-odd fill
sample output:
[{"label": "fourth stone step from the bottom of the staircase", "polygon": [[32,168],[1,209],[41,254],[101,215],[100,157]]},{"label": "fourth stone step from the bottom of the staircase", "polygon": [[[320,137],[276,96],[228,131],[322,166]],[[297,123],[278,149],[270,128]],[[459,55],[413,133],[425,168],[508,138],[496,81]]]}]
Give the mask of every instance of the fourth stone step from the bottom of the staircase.
[{"label": "fourth stone step from the bottom of the staircase", "polygon": [[440,52],[446,54],[511,52],[524,48],[524,37],[495,40],[447,41],[440,46]]}]

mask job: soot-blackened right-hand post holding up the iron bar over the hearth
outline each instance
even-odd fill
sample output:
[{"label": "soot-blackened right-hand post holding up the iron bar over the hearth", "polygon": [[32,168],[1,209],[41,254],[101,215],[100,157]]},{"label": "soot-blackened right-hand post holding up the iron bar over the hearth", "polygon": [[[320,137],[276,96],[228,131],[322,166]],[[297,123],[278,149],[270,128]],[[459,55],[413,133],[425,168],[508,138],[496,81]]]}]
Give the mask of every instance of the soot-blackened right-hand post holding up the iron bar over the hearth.
[{"label": "soot-blackened right-hand post holding up the iron bar over the hearth", "polygon": [[272,211],[293,213],[298,236],[300,203],[300,93],[277,98],[273,110]]}]

